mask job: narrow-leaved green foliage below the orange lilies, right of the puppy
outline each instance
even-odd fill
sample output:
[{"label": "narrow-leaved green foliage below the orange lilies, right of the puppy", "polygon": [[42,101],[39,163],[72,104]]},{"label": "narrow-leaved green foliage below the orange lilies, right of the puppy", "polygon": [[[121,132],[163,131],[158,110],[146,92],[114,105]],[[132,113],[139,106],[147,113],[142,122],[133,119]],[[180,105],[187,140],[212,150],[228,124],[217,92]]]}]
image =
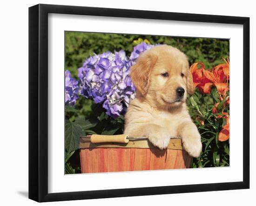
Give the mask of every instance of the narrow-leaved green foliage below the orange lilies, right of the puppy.
[{"label": "narrow-leaved green foliage below the orange lilies, right of the puppy", "polygon": [[[213,96],[218,96],[216,88],[212,89],[211,95],[202,95],[195,92],[187,100],[190,116],[201,134],[202,141],[202,153],[199,158],[193,158],[193,168],[229,166],[229,140],[223,142],[218,140],[222,126],[226,124],[222,113],[229,113],[229,105],[223,107],[223,103],[229,98],[229,93],[222,101],[216,97],[212,98]],[[212,109],[217,102],[220,102],[219,106],[221,105],[218,106],[220,112],[212,113]],[[219,118],[218,115],[222,117]]]}]

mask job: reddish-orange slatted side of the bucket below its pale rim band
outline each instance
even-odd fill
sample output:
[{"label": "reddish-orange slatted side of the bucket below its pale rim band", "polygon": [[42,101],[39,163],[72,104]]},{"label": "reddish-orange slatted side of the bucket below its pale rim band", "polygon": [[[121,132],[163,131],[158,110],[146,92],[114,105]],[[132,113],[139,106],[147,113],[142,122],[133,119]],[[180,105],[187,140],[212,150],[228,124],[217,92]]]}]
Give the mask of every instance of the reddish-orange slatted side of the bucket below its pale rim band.
[{"label": "reddish-orange slatted side of the bucket below its pale rim band", "polygon": [[180,169],[190,166],[184,150],[158,148],[82,148],[82,173]]}]

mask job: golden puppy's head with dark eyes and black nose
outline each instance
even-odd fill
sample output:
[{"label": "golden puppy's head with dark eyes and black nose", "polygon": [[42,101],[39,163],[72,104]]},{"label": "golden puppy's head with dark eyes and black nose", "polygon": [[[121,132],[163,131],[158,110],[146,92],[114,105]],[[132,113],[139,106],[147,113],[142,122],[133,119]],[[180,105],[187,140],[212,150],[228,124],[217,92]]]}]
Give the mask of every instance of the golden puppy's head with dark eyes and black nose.
[{"label": "golden puppy's head with dark eyes and black nose", "polygon": [[131,67],[130,76],[136,93],[158,107],[180,106],[187,93],[194,92],[187,57],[171,46],[155,46],[143,52]]}]

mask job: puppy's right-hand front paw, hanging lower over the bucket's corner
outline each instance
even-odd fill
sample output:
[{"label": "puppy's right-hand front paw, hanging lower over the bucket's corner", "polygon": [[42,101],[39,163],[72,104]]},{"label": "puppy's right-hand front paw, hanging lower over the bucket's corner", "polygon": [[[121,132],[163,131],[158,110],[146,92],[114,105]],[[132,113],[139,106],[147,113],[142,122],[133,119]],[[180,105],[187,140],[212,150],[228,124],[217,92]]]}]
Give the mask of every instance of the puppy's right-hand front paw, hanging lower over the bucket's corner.
[{"label": "puppy's right-hand front paw, hanging lower over the bucket's corner", "polygon": [[202,142],[201,137],[199,135],[196,137],[189,137],[186,139],[182,139],[183,148],[189,153],[192,157],[199,157],[202,152]]}]

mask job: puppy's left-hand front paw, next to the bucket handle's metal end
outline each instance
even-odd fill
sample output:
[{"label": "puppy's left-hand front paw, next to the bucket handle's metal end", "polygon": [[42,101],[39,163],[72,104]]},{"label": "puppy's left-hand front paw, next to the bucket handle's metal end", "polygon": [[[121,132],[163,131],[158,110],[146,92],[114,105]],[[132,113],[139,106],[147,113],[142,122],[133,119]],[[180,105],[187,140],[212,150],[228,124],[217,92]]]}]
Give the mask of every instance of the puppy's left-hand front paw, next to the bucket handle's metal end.
[{"label": "puppy's left-hand front paw, next to the bucket handle's metal end", "polygon": [[170,137],[167,132],[159,132],[148,135],[148,140],[159,149],[166,149],[170,142]]}]

